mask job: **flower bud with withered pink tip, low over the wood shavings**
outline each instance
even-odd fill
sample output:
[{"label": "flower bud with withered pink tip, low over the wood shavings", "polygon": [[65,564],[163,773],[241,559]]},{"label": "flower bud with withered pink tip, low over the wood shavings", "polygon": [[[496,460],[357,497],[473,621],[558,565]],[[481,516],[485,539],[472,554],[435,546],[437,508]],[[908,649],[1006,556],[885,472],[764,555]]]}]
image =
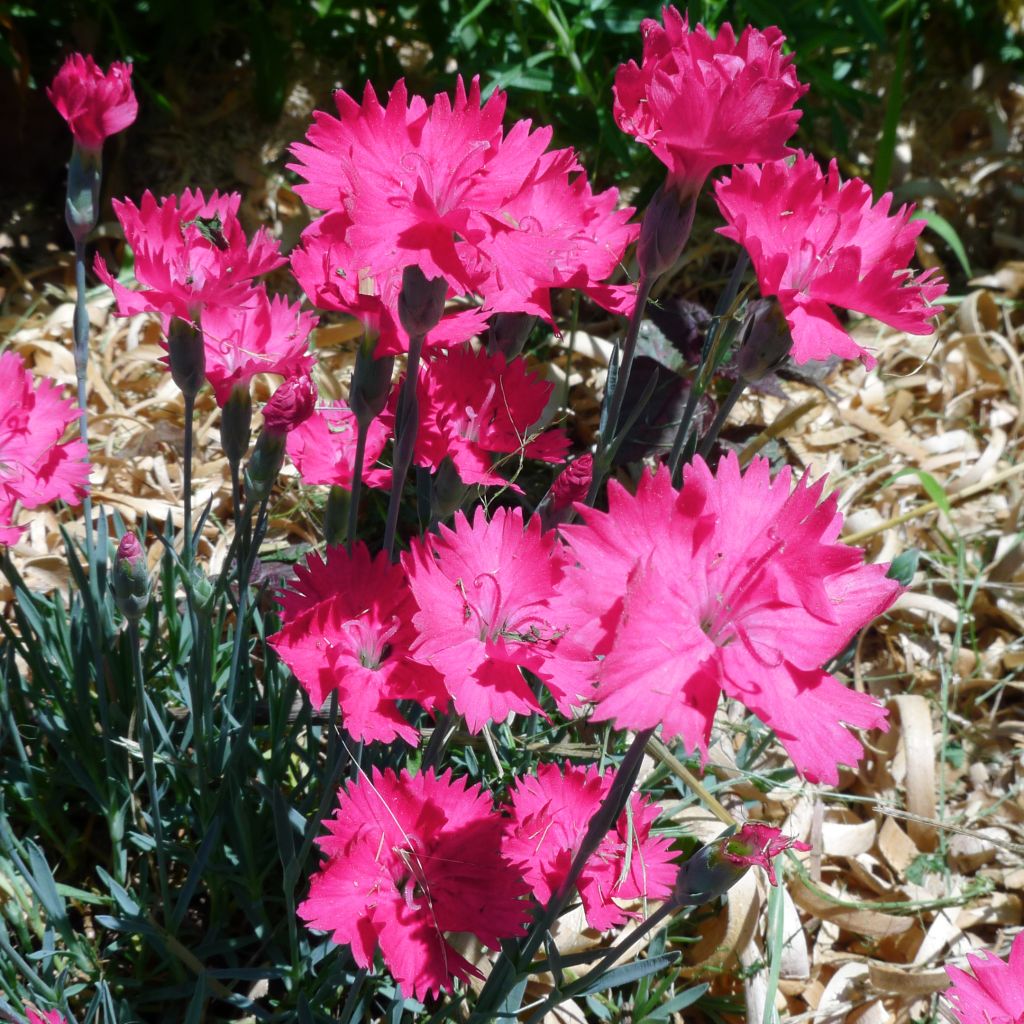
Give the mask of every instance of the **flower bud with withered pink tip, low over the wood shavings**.
[{"label": "flower bud with withered pink tip, low over the wood shavings", "polygon": [[768,881],[776,885],[773,860],[791,849],[810,850],[810,847],[760,821],[744,821],[738,830],[728,828],[683,862],[676,876],[673,902],[680,906],[708,903],[728,892],[751,864],[763,867]]}]

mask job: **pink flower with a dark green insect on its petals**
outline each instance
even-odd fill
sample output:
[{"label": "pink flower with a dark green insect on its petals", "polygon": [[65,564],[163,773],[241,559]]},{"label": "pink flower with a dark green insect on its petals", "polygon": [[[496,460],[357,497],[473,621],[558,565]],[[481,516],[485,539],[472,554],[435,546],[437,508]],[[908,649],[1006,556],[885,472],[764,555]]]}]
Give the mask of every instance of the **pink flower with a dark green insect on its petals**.
[{"label": "pink flower with a dark green insect on its petals", "polygon": [[161,313],[166,330],[169,316],[198,323],[206,306],[249,301],[253,279],[285,259],[266,228],[246,241],[238,217],[241,202],[238,193],[214,193],[206,200],[202,191],[187,188],[180,200],[169,196],[159,205],[150,191],[141,207],[115,200],[114,211],[135,255],[135,278],[145,286],[125,288],[96,255],[93,269],[114,292],[118,315]]}]

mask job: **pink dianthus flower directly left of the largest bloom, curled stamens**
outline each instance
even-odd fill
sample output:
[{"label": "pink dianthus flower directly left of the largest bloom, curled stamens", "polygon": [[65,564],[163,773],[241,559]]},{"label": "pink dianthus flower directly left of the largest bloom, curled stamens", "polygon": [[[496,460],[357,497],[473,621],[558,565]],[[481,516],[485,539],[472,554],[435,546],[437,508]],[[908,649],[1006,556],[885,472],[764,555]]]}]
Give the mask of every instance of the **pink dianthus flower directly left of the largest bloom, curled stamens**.
[{"label": "pink dianthus flower directly left of the largest bloom, curled stamens", "polygon": [[[523,529],[521,509],[498,509],[488,521],[478,507],[472,524],[456,513],[402,556],[420,610],[413,655],[436,669],[472,732],[510,712],[540,706],[520,669],[546,681],[545,663],[564,633],[549,600],[564,556],[554,534],[535,516]],[[566,694],[552,688],[559,707]]]}]

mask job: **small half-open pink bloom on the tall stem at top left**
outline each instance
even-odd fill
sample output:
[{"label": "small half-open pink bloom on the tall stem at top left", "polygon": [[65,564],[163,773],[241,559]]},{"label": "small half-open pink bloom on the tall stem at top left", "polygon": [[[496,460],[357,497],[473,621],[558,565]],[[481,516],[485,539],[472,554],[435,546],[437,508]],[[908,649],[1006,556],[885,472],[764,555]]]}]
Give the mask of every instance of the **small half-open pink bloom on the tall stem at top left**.
[{"label": "small half-open pink bloom on the tall stem at top left", "polygon": [[99,150],[103,139],[124,131],[138,116],[131,65],[115,60],[104,75],[87,53],[72,53],[46,89],[83,150]]}]

